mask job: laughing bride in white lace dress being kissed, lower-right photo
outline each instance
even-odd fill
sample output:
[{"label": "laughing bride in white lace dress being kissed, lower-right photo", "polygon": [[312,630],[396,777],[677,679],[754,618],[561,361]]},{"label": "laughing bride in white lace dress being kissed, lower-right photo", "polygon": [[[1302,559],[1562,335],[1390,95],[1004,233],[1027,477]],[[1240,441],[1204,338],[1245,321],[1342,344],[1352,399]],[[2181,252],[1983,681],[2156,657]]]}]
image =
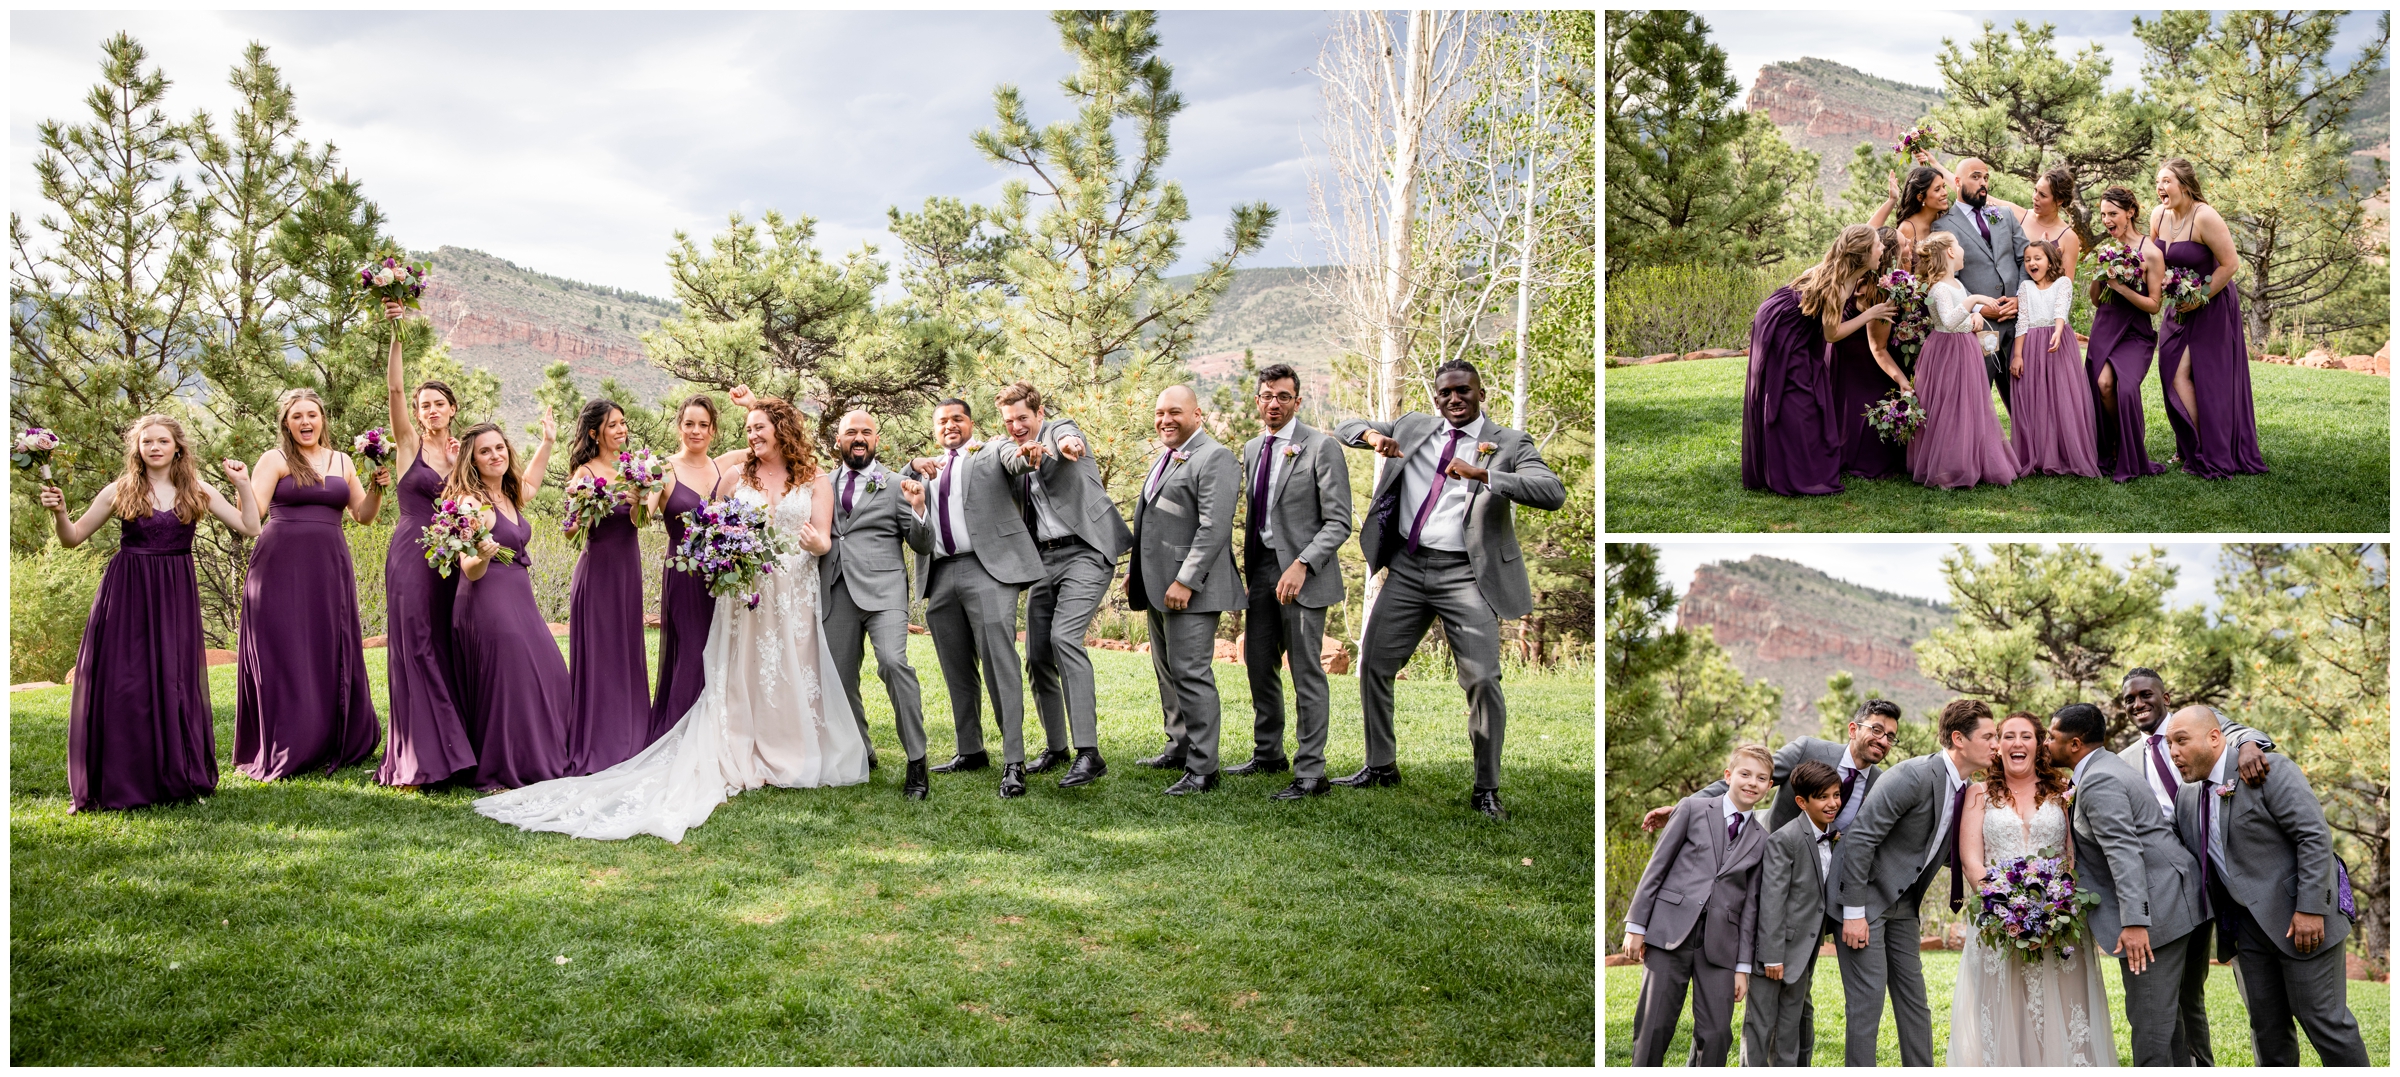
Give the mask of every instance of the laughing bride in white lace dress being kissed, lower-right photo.
[{"label": "laughing bride in white lace dress being kissed, lower-right photo", "polygon": [[[1958,861],[1968,892],[2011,856],[2064,856],[2064,871],[2074,871],[2066,782],[2042,760],[2042,720],[2018,712],[1999,722],[1999,775],[1970,784],[1961,806],[1968,825],[1958,828]],[[2117,1065],[2095,957],[2088,928],[2078,931],[2074,957],[2042,955],[2038,962],[1968,933],[1951,991],[1949,1065]]]}]

